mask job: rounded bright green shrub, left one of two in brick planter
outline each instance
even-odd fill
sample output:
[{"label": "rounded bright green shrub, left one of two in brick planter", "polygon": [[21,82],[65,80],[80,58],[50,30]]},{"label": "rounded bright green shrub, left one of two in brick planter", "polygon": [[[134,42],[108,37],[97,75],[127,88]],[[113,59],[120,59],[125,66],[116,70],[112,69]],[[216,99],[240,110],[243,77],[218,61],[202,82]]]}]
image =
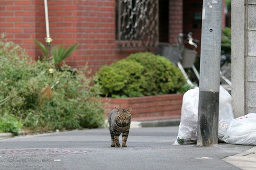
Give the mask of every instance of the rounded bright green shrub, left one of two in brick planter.
[{"label": "rounded bright green shrub, left one of two in brick planter", "polygon": [[102,85],[103,94],[143,96],[146,88],[144,67],[132,60],[120,60],[111,67],[103,66],[97,76]]}]

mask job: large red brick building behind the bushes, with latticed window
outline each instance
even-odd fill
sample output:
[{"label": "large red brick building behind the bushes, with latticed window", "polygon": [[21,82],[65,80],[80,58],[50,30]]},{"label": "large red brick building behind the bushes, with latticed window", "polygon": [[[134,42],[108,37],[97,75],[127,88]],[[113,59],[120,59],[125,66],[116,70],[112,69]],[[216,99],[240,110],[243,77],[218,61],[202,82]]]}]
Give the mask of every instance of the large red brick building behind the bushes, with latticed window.
[{"label": "large red brick building behind the bushes, with latticed window", "polygon": [[[128,11],[129,7],[123,5],[119,8],[118,1],[124,0],[48,0],[52,45],[79,43],[78,49],[65,60],[67,64],[81,68],[88,63],[89,68],[95,72],[102,65],[125,58],[132,52],[154,51],[154,43],[144,44],[142,48],[138,48],[137,44],[128,48],[120,47],[120,42],[126,36],[120,36],[119,31],[122,31],[122,23],[129,20],[120,19],[119,25],[119,18],[123,15],[119,10]],[[136,6],[135,0],[128,1],[131,6]],[[153,0],[152,4],[155,2],[157,0]],[[153,8],[152,4],[147,4],[147,8]],[[151,11],[151,16],[150,12],[142,14],[141,11],[132,15],[137,18],[139,15],[147,15],[149,26],[157,22],[157,29],[155,27],[152,29],[153,33],[149,33],[155,36],[154,41],[173,44],[178,33],[187,31],[194,32],[195,37],[200,39],[201,4],[202,0],[159,0],[155,5],[156,11]],[[146,8],[143,6],[145,4],[140,5],[141,8]],[[159,19],[152,19],[152,14],[157,14]],[[126,30],[127,34],[129,31],[130,28]],[[40,50],[33,38],[44,42],[46,37],[44,1],[1,0],[0,33],[5,33],[8,40],[20,44],[33,59],[37,59]],[[131,33],[132,42],[139,40],[137,33],[136,30]]]}]

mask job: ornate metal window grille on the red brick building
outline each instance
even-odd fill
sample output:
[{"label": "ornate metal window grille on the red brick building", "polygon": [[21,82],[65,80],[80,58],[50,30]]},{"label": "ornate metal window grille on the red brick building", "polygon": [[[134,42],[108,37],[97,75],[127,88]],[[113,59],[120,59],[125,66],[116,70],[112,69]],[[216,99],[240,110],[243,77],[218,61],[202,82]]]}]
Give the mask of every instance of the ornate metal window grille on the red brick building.
[{"label": "ornate metal window grille on the red brick building", "polygon": [[116,0],[120,48],[150,48],[158,43],[158,0]]}]

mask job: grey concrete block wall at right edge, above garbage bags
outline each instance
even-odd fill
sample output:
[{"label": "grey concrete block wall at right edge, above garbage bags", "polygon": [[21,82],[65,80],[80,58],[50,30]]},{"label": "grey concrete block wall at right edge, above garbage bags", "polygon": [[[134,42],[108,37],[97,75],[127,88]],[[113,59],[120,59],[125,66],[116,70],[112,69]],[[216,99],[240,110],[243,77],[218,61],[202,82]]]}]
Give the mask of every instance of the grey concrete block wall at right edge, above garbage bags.
[{"label": "grey concrete block wall at right edge, above garbage bags", "polygon": [[256,112],[256,0],[232,0],[232,97],[235,117]]}]

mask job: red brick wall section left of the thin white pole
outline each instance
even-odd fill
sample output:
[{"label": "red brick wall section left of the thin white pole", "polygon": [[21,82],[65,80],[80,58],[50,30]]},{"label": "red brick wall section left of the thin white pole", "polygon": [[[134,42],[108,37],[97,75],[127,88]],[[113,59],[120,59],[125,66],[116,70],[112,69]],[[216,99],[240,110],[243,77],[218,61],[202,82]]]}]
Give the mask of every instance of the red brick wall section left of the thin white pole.
[{"label": "red brick wall section left of the thin white pole", "polygon": [[1,0],[0,33],[20,44],[33,59],[37,57],[33,38],[43,37],[44,6],[41,0]]}]

